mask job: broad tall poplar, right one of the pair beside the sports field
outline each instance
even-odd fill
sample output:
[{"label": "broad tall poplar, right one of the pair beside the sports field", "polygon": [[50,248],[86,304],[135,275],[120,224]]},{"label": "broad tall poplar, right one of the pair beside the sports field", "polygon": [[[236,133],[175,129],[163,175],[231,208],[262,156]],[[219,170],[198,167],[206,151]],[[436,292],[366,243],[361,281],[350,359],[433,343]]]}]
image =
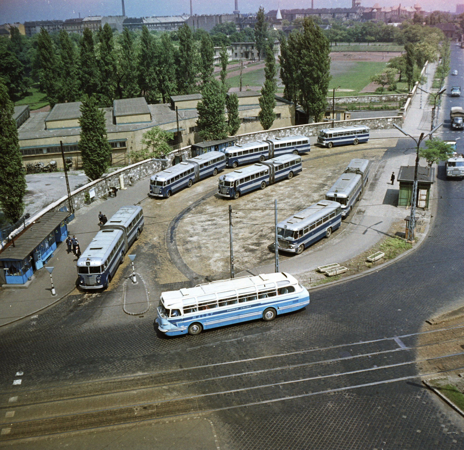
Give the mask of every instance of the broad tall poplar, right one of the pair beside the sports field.
[{"label": "broad tall poplar, right one of the pair beside the sports field", "polygon": [[330,81],[329,42],[319,26],[304,18],[303,33],[297,35],[298,99],[308,117],[319,122],[327,107]]}]

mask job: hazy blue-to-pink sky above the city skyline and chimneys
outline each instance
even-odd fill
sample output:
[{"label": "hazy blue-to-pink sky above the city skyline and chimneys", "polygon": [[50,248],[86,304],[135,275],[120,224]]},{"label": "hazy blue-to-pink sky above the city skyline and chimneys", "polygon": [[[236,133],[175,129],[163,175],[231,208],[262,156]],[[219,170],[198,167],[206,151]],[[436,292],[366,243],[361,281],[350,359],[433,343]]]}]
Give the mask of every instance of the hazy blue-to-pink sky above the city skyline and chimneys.
[{"label": "hazy blue-to-pink sky above the city skyline and chimneys", "polygon": [[[417,0],[415,0],[417,1]],[[401,3],[402,6],[412,6],[415,1],[377,0],[381,6],[393,6]],[[376,0],[361,0],[362,6],[373,6]],[[459,0],[464,3],[464,0]],[[192,0],[193,14],[219,14],[232,13],[234,0]],[[190,13],[189,0],[170,0],[165,3],[161,0],[125,0],[126,16],[166,16]],[[238,9],[241,13],[258,11],[263,5],[265,11],[291,8],[310,8],[310,0],[238,0]],[[426,11],[441,9],[455,12],[455,3],[445,0],[420,0],[420,5]],[[351,0],[314,0],[315,8],[348,8]],[[25,22],[26,20],[71,19],[74,17],[90,15],[121,15],[121,0],[0,0],[0,23]]]}]

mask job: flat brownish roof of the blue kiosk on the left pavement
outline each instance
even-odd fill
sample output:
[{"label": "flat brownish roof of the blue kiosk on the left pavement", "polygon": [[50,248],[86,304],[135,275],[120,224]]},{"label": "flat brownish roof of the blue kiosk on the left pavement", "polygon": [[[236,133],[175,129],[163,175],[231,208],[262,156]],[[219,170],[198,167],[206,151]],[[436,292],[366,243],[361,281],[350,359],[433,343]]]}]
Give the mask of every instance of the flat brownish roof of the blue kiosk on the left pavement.
[{"label": "flat brownish roof of the blue kiosk on the left pavement", "polygon": [[14,247],[10,244],[9,250],[1,252],[0,260],[23,260],[69,215],[69,212],[59,211],[45,213],[14,240]]}]

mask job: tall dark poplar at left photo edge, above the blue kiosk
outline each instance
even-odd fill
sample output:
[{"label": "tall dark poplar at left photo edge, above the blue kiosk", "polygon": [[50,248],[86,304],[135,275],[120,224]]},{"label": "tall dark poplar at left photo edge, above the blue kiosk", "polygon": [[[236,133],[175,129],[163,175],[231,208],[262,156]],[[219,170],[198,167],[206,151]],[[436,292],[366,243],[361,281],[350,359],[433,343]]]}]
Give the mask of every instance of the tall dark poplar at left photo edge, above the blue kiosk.
[{"label": "tall dark poplar at left photo edge, above the blue kiosk", "polygon": [[24,212],[23,196],[26,178],[22,171],[23,160],[19,153],[18,130],[13,120],[13,102],[8,98],[6,86],[0,80],[0,208],[10,223]]}]

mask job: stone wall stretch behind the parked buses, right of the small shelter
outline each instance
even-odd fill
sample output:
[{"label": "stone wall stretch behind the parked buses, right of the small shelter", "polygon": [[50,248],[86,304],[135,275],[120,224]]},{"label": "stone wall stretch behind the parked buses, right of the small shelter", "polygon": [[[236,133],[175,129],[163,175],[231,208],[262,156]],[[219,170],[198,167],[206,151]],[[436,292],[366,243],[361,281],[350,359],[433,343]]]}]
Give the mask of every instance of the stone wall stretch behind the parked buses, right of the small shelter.
[{"label": "stone wall stretch behind the parked buses, right of the small shelter", "polygon": [[[372,117],[367,119],[353,119],[353,120],[335,120],[335,127],[351,126],[351,125],[365,125],[371,130],[383,130],[393,128],[393,124],[398,126],[403,125],[403,117]],[[324,128],[331,128],[332,122],[318,122],[315,124],[295,125],[286,128],[277,128],[275,130],[256,131],[254,133],[237,135],[238,143],[246,143],[253,141],[263,141],[268,138],[287,137],[287,136],[316,136],[319,130]]]}]

